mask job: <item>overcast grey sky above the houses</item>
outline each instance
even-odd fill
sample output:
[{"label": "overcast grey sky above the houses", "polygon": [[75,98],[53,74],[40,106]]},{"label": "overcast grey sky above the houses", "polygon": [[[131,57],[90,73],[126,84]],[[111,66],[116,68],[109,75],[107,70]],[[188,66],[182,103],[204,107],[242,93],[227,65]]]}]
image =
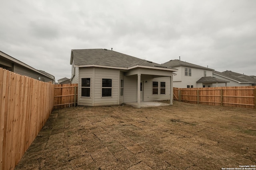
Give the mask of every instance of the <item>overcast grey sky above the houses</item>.
[{"label": "overcast grey sky above the houses", "polygon": [[0,51],[71,77],[71,49],[256,75],[256,0],[1,0]]}]

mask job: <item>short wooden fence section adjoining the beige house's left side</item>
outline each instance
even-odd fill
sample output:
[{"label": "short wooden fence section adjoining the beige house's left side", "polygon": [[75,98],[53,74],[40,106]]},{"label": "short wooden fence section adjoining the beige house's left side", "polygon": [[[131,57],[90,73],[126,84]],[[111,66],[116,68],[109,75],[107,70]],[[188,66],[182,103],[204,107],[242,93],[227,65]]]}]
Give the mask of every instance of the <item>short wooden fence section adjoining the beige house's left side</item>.
[{"label": "short wooden fence section adjoining the beige house's left side", "polygon": [[56,84],[54,90],[54,109],[76,106],[78,84]]}]

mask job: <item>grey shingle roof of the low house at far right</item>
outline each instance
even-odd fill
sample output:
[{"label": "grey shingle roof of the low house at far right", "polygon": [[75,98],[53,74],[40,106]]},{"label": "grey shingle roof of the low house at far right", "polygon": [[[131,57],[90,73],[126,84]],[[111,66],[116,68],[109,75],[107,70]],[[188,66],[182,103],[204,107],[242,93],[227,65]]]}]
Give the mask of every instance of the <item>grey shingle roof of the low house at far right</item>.
[{"label": "grey shingle roof of the low house at far right", "polygon": [[213,71],[213,74],[217,74],[219,76],[240,82],[240,83],[256,83],[256,79],[251,77],[251,76],[246,76],[244,74],[240,74],[237,72],[232,72],[232,71],[224,71],[224,72],[218,72],[218,71]]}]

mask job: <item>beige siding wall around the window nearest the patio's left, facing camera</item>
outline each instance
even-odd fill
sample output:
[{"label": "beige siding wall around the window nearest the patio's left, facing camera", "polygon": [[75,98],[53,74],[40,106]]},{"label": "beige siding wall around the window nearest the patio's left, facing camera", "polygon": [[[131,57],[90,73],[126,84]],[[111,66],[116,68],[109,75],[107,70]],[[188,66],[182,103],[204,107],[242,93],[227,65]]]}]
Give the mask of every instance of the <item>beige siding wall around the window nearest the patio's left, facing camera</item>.
[{"label": "beige siding wall around the window nearest the patio's left, facing camera", "polygon": [[[102,97],[102,78],[112,79],[112,96]],[[117,105],[119,92],[119,70],[95,68],[94,106]]]}]

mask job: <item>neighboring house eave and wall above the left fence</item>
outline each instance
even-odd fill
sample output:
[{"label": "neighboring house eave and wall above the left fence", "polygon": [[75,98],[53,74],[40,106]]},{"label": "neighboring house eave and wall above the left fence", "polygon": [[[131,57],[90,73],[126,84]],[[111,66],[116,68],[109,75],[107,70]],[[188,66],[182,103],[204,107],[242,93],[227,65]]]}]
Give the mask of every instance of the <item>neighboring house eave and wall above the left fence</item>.
[{"label": "neighboring house eave and wall above the left fence", "polygon": [[2,51],[0,51],[0,67],[43,82],[51,82],[52,84],[54,84],[55,82],[54,76],[52,76],[51,74],[44,74],[44,71],[36,70],[35,68],[25,63],[22,63],[17,59],[14,59],[10,55],[7,55]]}]

